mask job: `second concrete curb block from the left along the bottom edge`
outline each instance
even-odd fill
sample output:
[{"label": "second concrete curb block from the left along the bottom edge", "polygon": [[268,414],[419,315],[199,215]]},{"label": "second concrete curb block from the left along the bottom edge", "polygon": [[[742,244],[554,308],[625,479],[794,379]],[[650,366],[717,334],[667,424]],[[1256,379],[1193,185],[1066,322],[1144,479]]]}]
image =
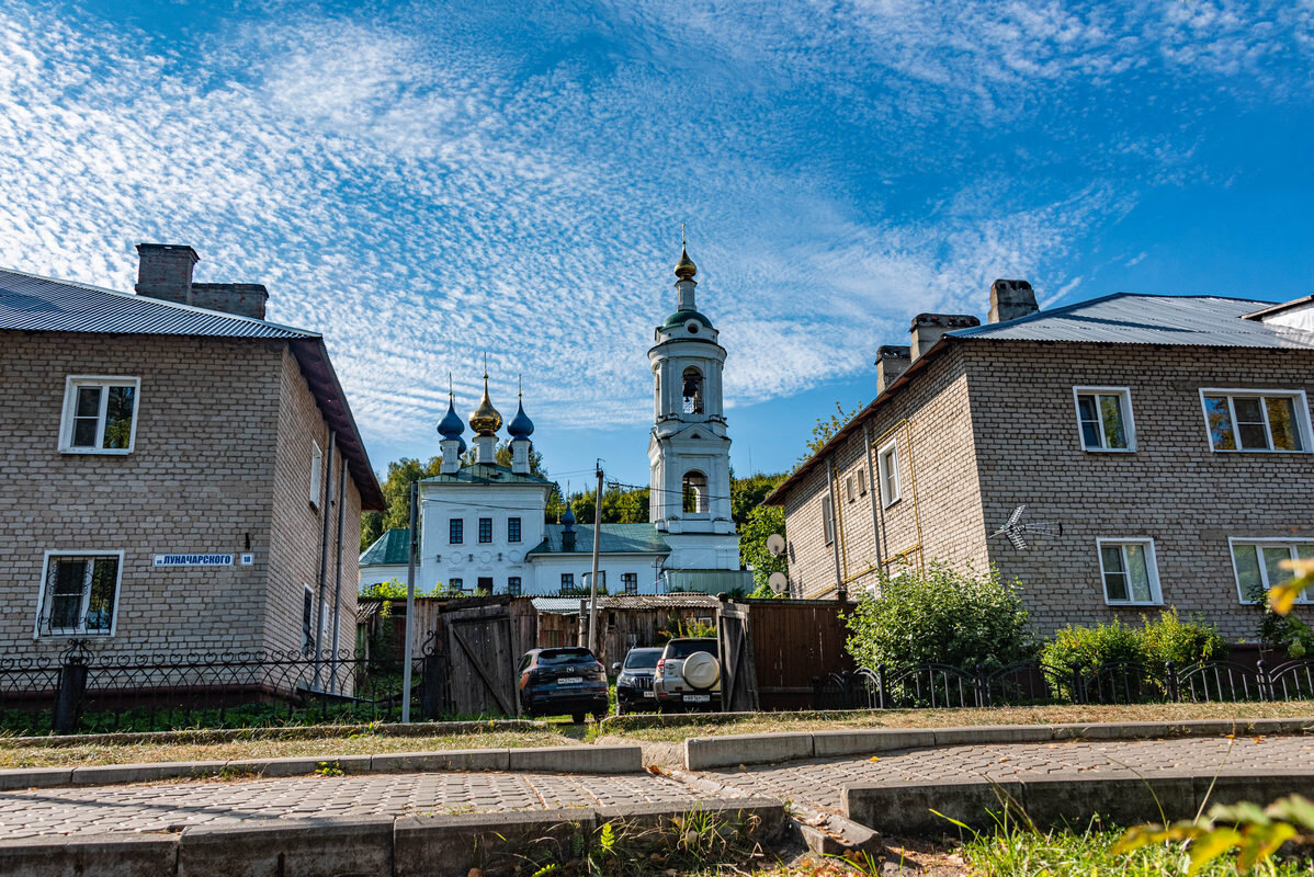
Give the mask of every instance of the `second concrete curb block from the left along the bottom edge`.
[{"label": "second concrete curb block from the left along the bottom edge", "polygon": [[179,838],[177,877],[390,877],[393,818],[196,826]]}]

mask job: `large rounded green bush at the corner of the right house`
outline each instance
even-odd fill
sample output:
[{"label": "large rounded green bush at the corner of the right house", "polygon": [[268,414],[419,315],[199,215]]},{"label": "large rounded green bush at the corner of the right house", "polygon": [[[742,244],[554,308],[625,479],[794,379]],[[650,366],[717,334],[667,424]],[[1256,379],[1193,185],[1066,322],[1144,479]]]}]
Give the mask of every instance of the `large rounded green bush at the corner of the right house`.
[{"label": "large rounded green bush at the corner of the right house", "polygon": [[1017,586],[1000,582],[993,567],[979,576],[933,561],[882,574],[875,595],[863,595],[848,618],[849,654],[859,664],[980,662],[996,670],[1035,654]]}]

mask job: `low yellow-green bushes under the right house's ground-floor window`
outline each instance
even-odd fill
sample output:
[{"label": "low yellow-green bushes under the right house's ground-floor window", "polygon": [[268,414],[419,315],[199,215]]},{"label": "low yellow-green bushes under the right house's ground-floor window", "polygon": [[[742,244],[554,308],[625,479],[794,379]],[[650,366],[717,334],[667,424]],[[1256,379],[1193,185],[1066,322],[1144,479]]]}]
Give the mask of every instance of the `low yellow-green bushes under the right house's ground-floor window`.
[{"label": "low yellow-green bushes under the right house's ground-floor window", "polygon": [[1126,628],[1121,621],[1095,628],[1063,628],[1041,650],[1041,662],[1056,670],[1084,672],[1100,664],[1133,663],[1163,667],[1171,660],[1187,667],[1202,660],[1219,660],[1227,655],[1227,643],[1218,628],[1194,618],[1183,622],[1176,609],[1141,628]]}]

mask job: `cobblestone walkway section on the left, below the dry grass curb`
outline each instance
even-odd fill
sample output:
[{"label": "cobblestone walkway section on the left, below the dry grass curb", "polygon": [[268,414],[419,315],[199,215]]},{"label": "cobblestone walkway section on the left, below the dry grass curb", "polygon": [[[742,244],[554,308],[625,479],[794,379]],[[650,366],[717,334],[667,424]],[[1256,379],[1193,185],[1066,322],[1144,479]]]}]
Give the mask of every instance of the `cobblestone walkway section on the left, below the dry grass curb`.
[{"label": "cobblestone walkway section on the left, below the dry grass curb", "polygon": [[0,793],[0,839],[168,831],[265,819],[481,813],[615,803],[691,805],[696,794],[652,775],[393,773],[230,782],[28,789]]}]

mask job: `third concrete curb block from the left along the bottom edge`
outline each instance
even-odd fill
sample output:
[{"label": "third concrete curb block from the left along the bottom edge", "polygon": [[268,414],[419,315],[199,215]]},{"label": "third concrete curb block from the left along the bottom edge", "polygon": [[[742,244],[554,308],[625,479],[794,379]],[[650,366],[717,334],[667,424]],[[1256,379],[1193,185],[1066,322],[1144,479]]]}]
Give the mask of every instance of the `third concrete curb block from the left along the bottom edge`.
[{"label": "third concrete curb block from the left along the bottom edge", "polygon": [[576,859],[594,826],[590,809],[402,817],[393,828],[393,874],[533,873]]}]

